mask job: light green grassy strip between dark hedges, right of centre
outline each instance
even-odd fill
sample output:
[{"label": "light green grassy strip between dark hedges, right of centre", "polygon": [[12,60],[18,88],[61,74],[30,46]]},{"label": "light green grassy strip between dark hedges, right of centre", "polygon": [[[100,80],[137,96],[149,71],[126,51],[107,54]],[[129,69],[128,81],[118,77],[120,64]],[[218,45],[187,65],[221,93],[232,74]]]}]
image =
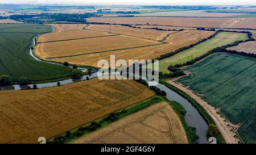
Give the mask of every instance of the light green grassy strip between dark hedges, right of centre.
[{"label": "light green grassy strip between dark hedges, right of centre", "polygon": [[174,56],[165,58],[159,61],[159,70],[162,73],[170,73],[168,66],[175,64],[183,64],[184,62],[191,61],[196,57],[204,55],[214,48],[221,47],[223,45],[232,44],[238,40],[246,40],[248,36],[246,33],[235,33],[235,32],[219,32],[212,39],[204,41],[196,45],[195,47],[189,48],[185,51],[177,53]]}]

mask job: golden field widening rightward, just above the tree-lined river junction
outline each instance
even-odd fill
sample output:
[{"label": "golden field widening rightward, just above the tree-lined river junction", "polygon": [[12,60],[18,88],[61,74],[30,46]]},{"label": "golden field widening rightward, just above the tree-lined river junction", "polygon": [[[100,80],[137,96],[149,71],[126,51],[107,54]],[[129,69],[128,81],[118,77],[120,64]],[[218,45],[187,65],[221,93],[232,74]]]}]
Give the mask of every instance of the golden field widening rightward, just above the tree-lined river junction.
[{"label": "golden field widening rightward, just above the tree-lined river junction", "polygon": [[[202,31],[204,35],[203,37],[208,37],[212,35],[213,31]],[[119,51],[109,51],[102,53],[90,53],[88,55],[81,56],[72,56],[72,57],[61,57],[61,58],[53,58],[51,60],[57,62],[69,62],[71,64],[79,64],[79,65],[89,65],[89,66],[97,66],[97,62],[101,59],[105,59],[110,61],[110,55],[115,55],[116,60],[125,60],[126,62],[129,59],[133,60],[148,60],[152,58],[157,58],[160,55],[174,52],[176,49],[181,47],[185,47],[187,45],[191,45],[199,41],[198,31],[180,31],[174,34],[171,34],[168,39],[168,44],[160,44],[148,47],[134,48],[134,49],[123,49]],[[183,37],[180,37],[183,36]]]}]

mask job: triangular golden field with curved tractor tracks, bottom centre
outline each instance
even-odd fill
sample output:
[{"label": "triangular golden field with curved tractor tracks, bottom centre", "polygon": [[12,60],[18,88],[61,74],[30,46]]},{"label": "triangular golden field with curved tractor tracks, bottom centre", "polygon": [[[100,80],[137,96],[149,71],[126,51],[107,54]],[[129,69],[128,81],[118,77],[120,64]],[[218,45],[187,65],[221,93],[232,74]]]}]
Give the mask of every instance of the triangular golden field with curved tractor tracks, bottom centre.
[{"label": "triangular golden field with curved tractor tracks, bottom centre", "polygon": [[169,103],[148,107],[79,140],[75,144],[185,144],[186,133]]}]

